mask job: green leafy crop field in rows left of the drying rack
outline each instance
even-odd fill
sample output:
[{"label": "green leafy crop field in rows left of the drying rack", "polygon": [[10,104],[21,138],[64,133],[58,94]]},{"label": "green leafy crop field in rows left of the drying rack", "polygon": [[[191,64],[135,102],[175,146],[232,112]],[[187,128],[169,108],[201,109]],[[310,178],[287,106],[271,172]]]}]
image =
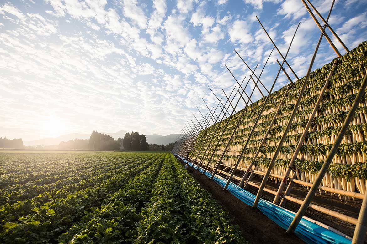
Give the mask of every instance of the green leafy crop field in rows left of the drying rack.
[{"label": "green leafy crop field in rows left of the drying rack", "polygon": [[171,153],[0,152],[0,243],[244,243]]}]

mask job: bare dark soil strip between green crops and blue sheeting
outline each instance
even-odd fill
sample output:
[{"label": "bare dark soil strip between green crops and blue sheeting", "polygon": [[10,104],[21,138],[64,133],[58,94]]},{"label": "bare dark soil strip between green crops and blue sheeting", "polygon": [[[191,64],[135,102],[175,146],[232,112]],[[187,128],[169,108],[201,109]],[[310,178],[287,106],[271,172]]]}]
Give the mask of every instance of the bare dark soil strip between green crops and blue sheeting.
[{"label": "bare dark soil strip between green crops and blue sheeting", "polygon": [[260,210],[252,209],[229,191],[223,190],[207,176],[191,168],[189,172],[229,214],[233,224],[240,226],[244,238],[250,243],[304,243],[295,234],[287,234],[286,230],[266,217]]}]

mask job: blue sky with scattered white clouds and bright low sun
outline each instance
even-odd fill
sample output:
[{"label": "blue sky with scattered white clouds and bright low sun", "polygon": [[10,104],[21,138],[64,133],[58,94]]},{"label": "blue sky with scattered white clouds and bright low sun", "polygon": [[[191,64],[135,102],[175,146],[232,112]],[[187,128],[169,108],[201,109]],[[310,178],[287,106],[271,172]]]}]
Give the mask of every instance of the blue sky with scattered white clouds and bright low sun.
[{"label": "blue sky with scattered white clouds and bright low sun", "polygon": [[[312,3],[327,15],[331,1]],[[259,76],[273,46],[255,15],[283,55],[301,22],[287,61],[304,76],[320,30],[301,0],[0,0],[0,136],[179,133],[192,113],[200,120],[196,106],[207,113],[202,98],[217,105],[208,86],[224,101],[221,89],[236,85],[224,64],[240,81],[251,74],[233,49]],[[329,23],[355,48],[367,40],[367,1],[335,1]],[[323,40],[313,69],[335,57]],[[260,77],[268,90],[277,59]],[[275,90],[286,84],[281,74]]]}]

